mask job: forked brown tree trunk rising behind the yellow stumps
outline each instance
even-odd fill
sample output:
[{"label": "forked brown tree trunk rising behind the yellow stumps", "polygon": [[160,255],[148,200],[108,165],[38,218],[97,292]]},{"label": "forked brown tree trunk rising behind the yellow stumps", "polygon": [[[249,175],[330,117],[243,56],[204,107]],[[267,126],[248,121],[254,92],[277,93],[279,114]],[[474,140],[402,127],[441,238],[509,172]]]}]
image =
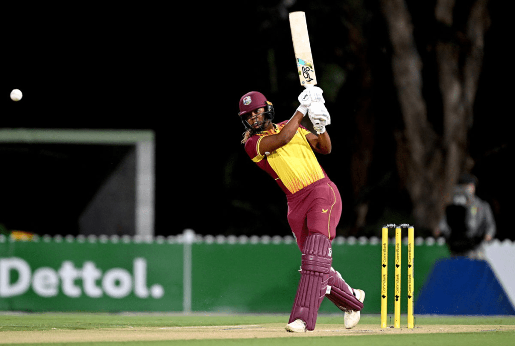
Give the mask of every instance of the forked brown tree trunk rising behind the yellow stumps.
[{"label": "forked brown tree trunk rising behind the yellow stumps", "polygon": [[[435,229],[459,174],[471,168],[467,135],[483,58],[488,27],[487,0],[472,4],[466,30],[435,44],[443,134],[428,121],[422,95],[422,61],[416,49],[413,25],[404,0],[381,0],[393,49],[392,70],[404,130],[396,136],[399,175],[413,203],[415,222]],[[454,30],[454,0],[438,0],[437,21]],[[460,44],[456,44],[456,40]]]}]

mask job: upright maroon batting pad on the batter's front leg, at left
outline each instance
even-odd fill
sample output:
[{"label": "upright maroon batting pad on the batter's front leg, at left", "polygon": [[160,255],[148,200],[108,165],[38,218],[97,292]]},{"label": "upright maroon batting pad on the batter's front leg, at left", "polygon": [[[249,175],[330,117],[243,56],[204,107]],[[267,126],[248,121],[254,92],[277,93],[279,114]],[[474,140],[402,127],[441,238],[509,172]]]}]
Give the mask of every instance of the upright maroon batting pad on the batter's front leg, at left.
[{"label": "upright maroon batting pad on the batter's front leg, at left", "polygon": [[288,323],[301,319],[306,329],[313,331],[318,309],[331,278],[331,242],[322,234],[306,238],[302,251],[300,282]]}]

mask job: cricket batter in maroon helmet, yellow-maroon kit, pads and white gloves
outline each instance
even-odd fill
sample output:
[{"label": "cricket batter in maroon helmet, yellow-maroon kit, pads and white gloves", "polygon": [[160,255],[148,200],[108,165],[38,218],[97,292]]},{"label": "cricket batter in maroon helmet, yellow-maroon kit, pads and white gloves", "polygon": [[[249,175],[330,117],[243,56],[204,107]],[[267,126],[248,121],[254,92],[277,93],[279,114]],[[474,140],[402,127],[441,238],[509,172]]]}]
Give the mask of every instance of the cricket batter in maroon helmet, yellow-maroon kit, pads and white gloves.
[{"label": "cricket batter in maroon helmet, yellow-maroon kit, pads and white gloves", "polygon": [[[332,267],[331,241],[341,215],[341,197],[315,157],[331,152],[331,138],[325,126],[331,123],[322,89],[307,87],[300,106],[288,121],[272,123],[272,103],[258,92],[239,100],[239,117],[247,131],[245,151],[286,193],[288,223],[302,251],[300,282],[286,325],[288,332],[315,329],[318,309],[325,297],[345,312],[347,329],[360,318],[365,292],[350,287]],[[300,123],[303,117],[313,123],[316,135]]]}]

